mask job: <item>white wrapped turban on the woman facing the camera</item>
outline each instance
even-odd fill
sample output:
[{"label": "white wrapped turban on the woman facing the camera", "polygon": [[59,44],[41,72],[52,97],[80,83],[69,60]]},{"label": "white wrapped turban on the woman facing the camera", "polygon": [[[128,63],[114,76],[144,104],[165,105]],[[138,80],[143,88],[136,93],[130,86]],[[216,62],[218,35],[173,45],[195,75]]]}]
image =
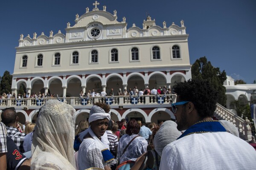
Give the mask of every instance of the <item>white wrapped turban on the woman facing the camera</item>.
[{"label": "white wrapped turban on the woman facing the camera", "polygon": [[104,111],[104,109],[102,109],[101,107],[99,107],[97,105],[93,105],[93,107],[90,110],[90,116],[89,116],[88,122],[90,123],[90,122],[96,121],[98,119],[105,119],[105,118],[110,120],[110,117],[111,117],[110,113],[111,113],[111,111],[106,113]]}]

